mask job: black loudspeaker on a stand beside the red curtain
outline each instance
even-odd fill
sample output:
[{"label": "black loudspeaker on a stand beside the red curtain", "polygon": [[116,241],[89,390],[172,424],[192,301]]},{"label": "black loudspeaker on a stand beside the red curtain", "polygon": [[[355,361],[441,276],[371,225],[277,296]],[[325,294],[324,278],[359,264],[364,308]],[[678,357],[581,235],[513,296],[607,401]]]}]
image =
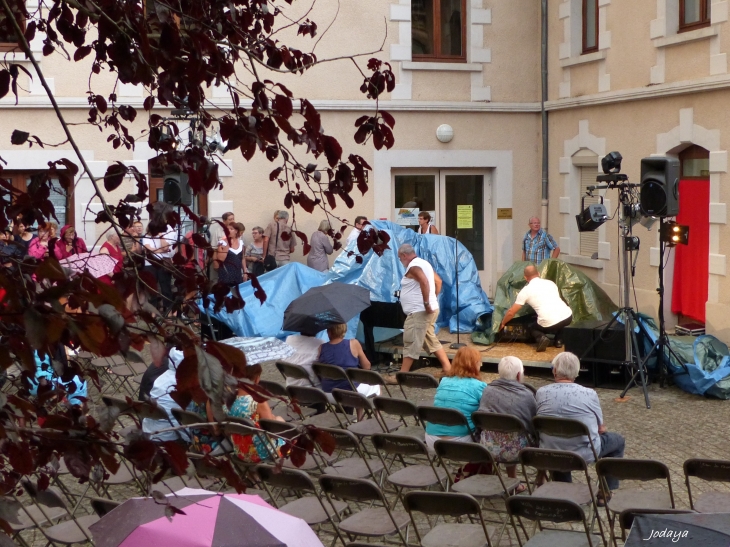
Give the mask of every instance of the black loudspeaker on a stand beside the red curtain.
[{"label": "black loudspeaker on a stand beside the red curtain", "polygon": [[679,160],[657,157],[641,160],[641,212],[652,217],[679,213]]}]

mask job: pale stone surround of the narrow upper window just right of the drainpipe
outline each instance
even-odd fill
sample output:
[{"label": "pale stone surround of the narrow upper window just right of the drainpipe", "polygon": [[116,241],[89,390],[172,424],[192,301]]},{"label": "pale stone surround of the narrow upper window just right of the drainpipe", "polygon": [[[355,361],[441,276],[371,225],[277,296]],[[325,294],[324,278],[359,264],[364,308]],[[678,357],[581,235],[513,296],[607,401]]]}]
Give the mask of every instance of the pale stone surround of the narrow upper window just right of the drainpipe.
[{"label": "pale stone surround of the narrow upper window just right of the drainpipe", "polygon": [[606,73],[606,54],[611,48],[611,31],[608,30],[608,6],[611,0],[598,0],[598,51],[582,55],[583,50],[583,1],[565,0],[558,5],[558,17],[563,21],[564,42],[558,49],[563,78],[558,97],[571,96],[570,68],[586,63],[598,63],[598,92],[611,90],[611,75]]}]

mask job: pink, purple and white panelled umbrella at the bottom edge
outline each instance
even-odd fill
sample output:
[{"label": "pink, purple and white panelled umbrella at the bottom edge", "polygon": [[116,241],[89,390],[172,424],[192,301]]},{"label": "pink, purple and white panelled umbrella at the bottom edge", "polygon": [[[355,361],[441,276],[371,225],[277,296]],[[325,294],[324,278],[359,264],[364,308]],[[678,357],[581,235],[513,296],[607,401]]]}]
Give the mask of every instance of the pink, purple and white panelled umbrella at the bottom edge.
[{"label": "pink, purple and white panelled umbrella at the bottom edge", "polygon": [[185,514],[169,520],[165,504],[132,498],[89,527],[97,547],[323,547],[303,520],[258,496],[184,488],[170,494]]}]

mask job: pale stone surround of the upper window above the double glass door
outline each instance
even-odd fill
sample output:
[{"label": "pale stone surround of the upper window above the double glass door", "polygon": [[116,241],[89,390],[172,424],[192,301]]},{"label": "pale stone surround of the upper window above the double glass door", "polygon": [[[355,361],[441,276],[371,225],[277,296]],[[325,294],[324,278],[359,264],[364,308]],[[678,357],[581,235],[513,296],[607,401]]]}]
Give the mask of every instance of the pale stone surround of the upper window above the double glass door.
[{"label": "pale stone surround of the upper window above the double glass door", "polygon": [[411,51],[411,0],[390,5],[390,21],[398,23],[399,41],[390,46],[390,60],[400,61],[393,100],[410,101],[413,97],[413,71],[451,71],[471,74],[471,100],[492,100],[491,87],[484,85],[482,67],[492,62],[492,50],[484,47],[484,25],[492,23],[492,10],[482,8],[482,0],[467,0],[466,63],[414,62]]}]

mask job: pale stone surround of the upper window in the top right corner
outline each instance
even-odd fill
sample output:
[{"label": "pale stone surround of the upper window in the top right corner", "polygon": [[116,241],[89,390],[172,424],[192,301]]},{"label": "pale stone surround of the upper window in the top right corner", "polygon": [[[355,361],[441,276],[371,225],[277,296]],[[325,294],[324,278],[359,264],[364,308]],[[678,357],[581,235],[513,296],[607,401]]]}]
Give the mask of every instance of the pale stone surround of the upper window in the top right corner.
[{"label": "pale stone surround of the upper window in the top right corner", "polygon": [[665,82],[666,48],[710,40],[709,75],[727,74],[727,54],[720,51],[720,24],[728,20],[728,0],[711,0],[709,27],[678,32],[679,0],[657,0],[657,18],[651,22],[649,36],[656,48],[656,64],[651,67],[650,82]]}]

